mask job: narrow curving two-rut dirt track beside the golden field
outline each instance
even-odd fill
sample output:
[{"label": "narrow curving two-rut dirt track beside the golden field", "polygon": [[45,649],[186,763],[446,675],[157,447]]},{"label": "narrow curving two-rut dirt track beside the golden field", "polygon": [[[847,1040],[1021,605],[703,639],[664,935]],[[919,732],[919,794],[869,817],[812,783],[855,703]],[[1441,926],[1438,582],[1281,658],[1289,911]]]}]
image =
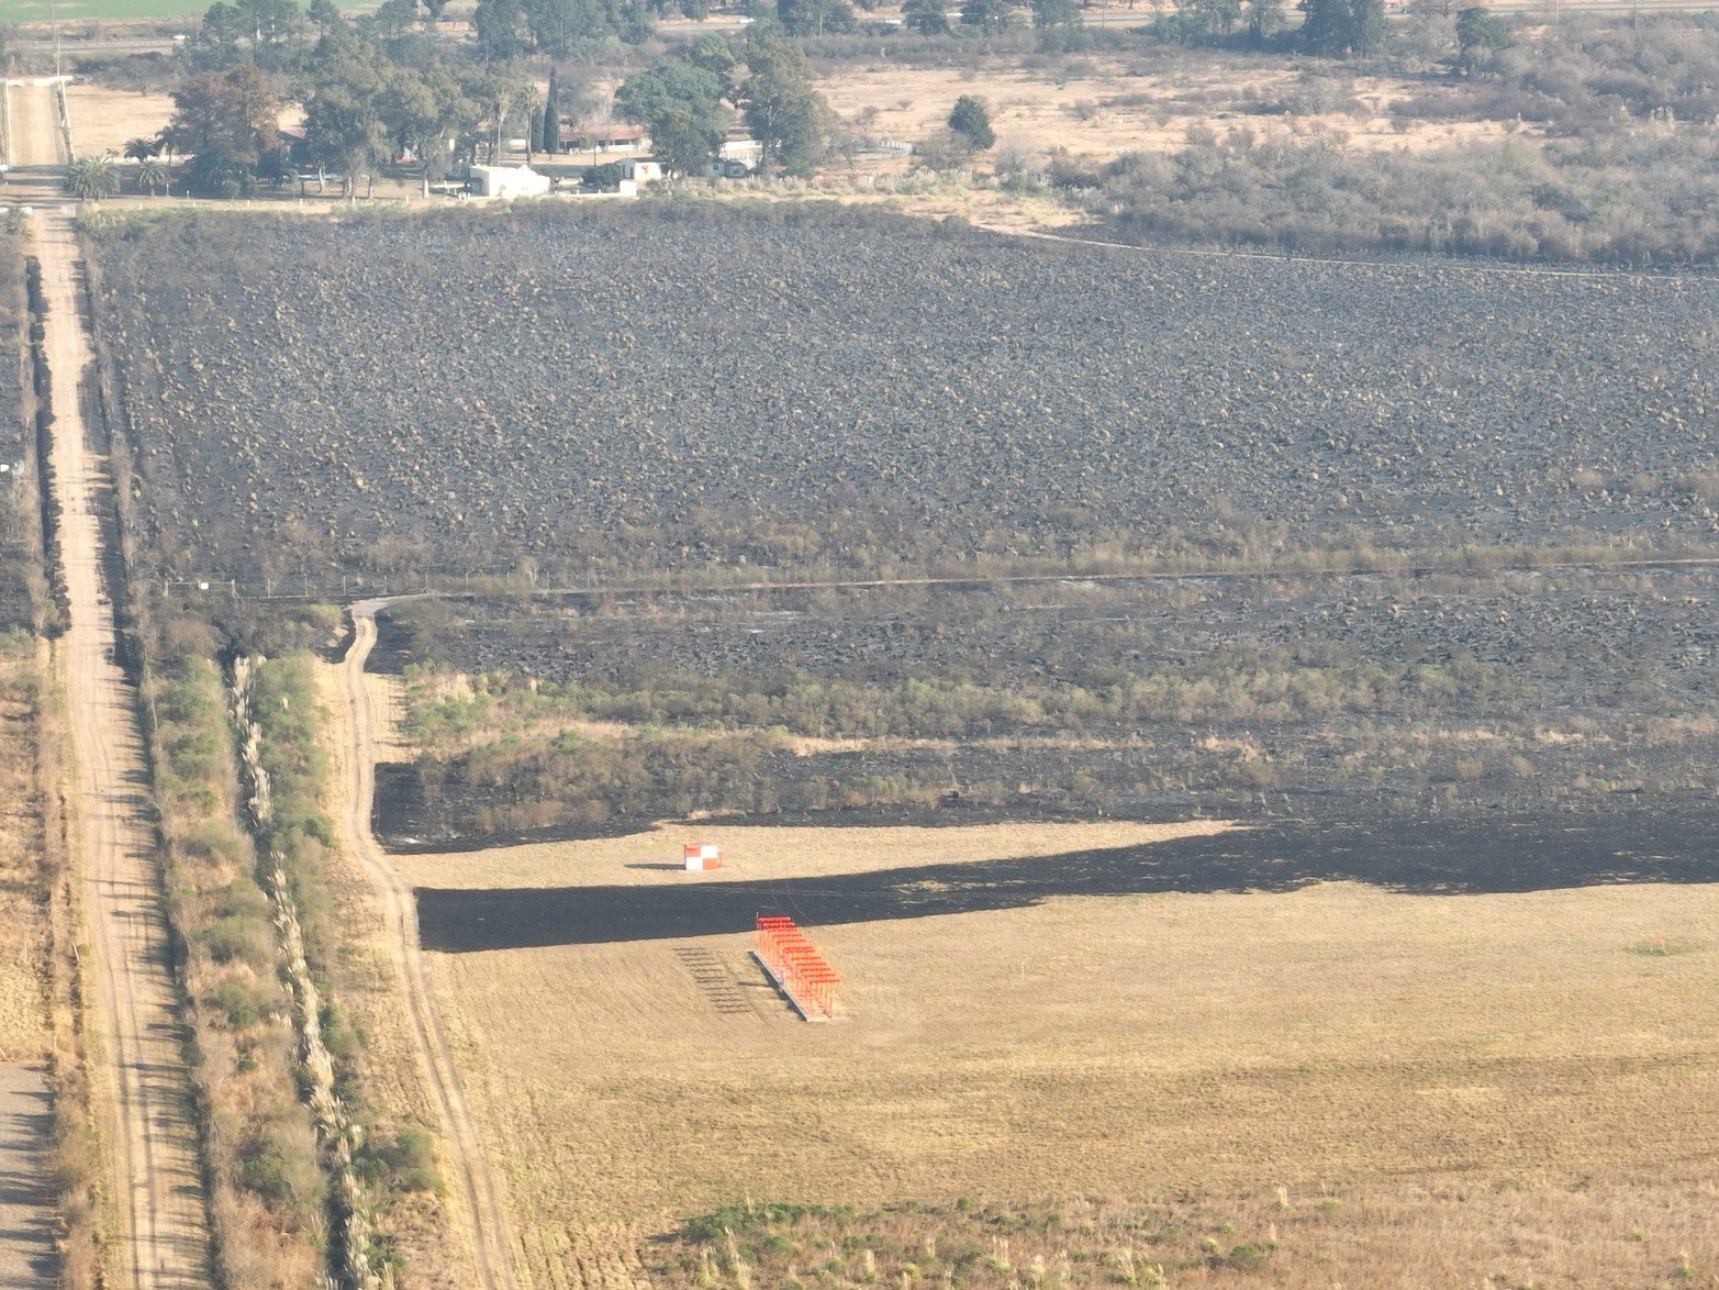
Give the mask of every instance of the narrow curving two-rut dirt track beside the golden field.
[{"label": "narrow curving two-rut dirt track beside the golden field", "polygon": [[375,614],[382,604],[382,600],[366,600],[352,605],[352,645],[342,666],[342,688],[351,709],[352,731],[344,829],[347,843],[382,896],[388,937],[395,948],[394,958],[401,970],[401,989],[411,1011],[418,1060],[442,1121],[442,1166],[449,1175],[452,1197],[469,1223],[471,1257],[478,1281],[488,1290],[504,1290],[517,1287],[519,1281],[514,1276],[512,1238],[507,1232],[502,1189],[483,1154],[483,1140],[478,1137],[476,1121],[466,1104],[454,1053],[430,994],[423,949],[418,943],[418,905],[413,898],[413,888],[388,863],[370,831],[371,803],[376,793],[376,736],[371,710],[373,691],[364,683],[364,662],[376,643]]}]

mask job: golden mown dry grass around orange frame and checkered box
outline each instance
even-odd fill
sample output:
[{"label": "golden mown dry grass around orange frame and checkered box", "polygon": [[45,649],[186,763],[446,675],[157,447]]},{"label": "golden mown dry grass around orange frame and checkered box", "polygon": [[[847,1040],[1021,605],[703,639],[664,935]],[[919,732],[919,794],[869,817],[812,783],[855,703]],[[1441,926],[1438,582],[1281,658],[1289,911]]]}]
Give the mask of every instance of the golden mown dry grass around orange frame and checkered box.
[{"label": "golden mown dry grass around orange frame and checkered box", "polygon": [[[1129,829],[665,827],[399,863],[444,888],[727,875],[803,889],[930,858],[1145,841]],[[732,867],[655,867],[694,838],[719,841]],[[780,1006],[748,961],[749,936],[430,956],[516,1237],[545,1283],[562,1283],[579,1250],[748,1197],[1284,1187],[1373,1213],[1375,1245],[1437,1211],[1427,1221],[1466,1240],[1456,1252],[1496,1250],[1508,1266],[1530,1259],[1525,1237],[1557,1244],[1547,1225],[1575,1213],[1573,1187],[1712,1180],[1714,888],[1052,896],[813,936],[847,979],[834,1025]],[[1453,1206],[1451,1189],[1490,1199]],[[1523,1189],[1559,1199],[1509,1199]],[[1624,1189],[1604,1206],[1618,1230],[1595,1238],[1624,1257],[1633,1223],[1698,1242],[1671,1197]],[[1453,1254],[1423,1244],[1427,1257]]]}]

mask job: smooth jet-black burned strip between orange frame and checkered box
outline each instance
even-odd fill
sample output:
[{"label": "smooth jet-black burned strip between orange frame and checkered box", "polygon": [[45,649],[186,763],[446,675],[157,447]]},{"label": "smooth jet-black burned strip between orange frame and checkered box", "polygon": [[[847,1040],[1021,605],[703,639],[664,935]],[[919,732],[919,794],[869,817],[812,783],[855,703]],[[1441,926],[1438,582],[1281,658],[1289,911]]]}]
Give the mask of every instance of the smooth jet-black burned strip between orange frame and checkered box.
[{"label": "smooth jet-black burned strip between orange frame and checkered box", "polygon": [[1712,817],[1274,824],[1150,846],[839,877],[686,886],[418,889],[426,949],[519,949],[712,936],[760,913],[801,924],[925,918],[1037,905],[1050,896],[1293,891],[1353,879],[1415,894],[1485,894],[1621,882],[1719,882]]}]

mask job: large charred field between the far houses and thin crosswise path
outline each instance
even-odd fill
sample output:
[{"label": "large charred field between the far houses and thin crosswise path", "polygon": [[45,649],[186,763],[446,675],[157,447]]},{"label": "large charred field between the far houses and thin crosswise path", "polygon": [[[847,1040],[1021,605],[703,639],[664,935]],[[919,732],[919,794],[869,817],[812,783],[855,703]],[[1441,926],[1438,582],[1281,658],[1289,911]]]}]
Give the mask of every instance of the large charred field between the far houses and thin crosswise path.
[{"label": "large charred field between the far houses and thin crosswise path", "polygon": [[648,206],[122,224],[96,260],[150,547],[254,590],[1716,525],[1704,277]]}]

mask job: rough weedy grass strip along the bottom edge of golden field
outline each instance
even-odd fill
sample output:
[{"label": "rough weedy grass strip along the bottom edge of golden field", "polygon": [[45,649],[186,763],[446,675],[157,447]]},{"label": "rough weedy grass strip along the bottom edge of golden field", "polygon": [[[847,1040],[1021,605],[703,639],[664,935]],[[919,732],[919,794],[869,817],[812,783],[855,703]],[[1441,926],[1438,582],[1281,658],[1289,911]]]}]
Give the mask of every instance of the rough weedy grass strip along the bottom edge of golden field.
[{"label": "rough weedy grass strip along the bottom edge of golden field", "polygon": [[[737,1202],[648,1247],[665,1287],[1331,1287],[1698,1283],[1698,1183],[1090,1195],[880,1207]],[[1655,1214],[1652,1232],[1638,1214]],[[1690,1244],[1693,1238],[1693,1244]]]}]

